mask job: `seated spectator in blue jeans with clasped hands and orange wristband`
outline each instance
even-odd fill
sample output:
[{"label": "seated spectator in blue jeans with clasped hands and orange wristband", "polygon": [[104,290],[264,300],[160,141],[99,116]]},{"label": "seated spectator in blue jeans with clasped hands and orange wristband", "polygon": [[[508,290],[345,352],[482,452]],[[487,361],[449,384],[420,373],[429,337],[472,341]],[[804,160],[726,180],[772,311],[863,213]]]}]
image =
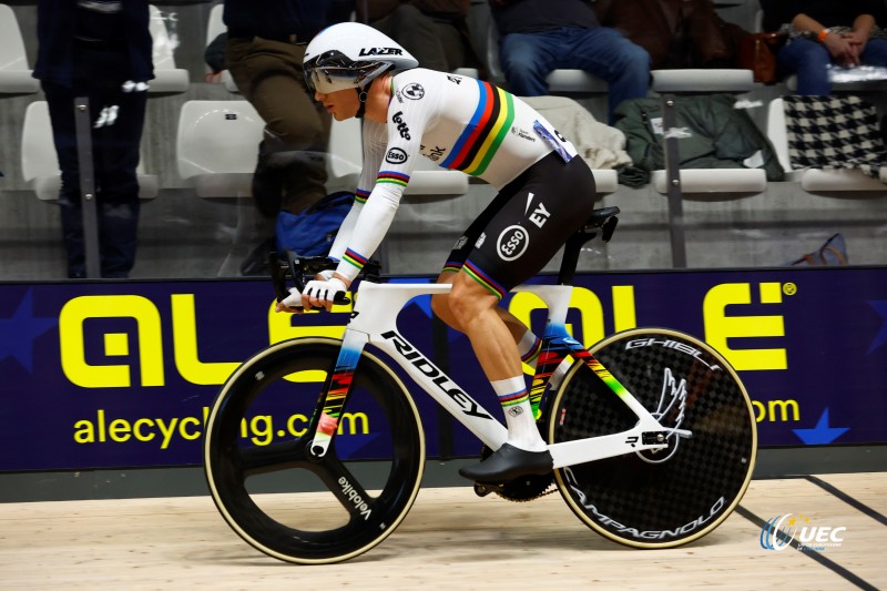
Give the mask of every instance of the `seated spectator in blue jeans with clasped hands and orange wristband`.
[{"label": "seated spectator in blue jeans with clasped hands and orange wristband", "polygon": [[764,30],[788,40],[776,53],[783,74],[797,74],[797,94],[832,93],[829,68],[887,67],[884,0],[761,0]]}]

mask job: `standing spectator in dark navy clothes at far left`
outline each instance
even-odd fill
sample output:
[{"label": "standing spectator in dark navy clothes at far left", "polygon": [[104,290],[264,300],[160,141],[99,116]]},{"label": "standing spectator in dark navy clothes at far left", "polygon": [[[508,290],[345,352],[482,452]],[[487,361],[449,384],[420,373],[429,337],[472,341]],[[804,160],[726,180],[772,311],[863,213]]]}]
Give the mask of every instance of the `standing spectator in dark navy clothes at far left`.
[{"label": "standing spectator in dark navy clothes at far left", "polygon": [[74,100],[88,98],[102,277],[135,264],[139,165],[151,61],[147,0],[40,0],[34,78],[41,81],[61,170],[68,276],[86,276]]}]

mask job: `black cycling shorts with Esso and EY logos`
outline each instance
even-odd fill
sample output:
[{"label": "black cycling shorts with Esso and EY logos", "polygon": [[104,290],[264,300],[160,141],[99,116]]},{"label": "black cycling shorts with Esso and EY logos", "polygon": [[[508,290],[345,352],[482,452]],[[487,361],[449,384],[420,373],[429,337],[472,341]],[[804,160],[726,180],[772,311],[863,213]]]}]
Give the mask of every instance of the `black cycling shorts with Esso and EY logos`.
[{"label": "black cycling shorts with Esso and EY logos", "polygon": [[499,298],[539,273],[594,208],[594,177],[552,152],[506,185],[456,242],[443,271],[465,271]]}]

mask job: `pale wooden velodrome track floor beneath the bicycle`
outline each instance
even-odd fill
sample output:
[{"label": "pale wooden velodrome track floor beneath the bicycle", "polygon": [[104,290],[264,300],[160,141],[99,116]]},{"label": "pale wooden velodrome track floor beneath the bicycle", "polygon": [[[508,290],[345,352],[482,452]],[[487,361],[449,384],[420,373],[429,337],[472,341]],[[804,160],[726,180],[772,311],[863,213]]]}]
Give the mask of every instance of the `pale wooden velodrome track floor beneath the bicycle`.
[{"label": "pale wooden velodrome track floor beneath the bicycle", "polygon": [[[763,522],[786,513],[846,528],[840,546],[762,548]],[[707,537],[636,550],[588,529],[557,492],[513,503],[422,489],[374,550],[305,567],[241,541],[208,497],[7,503],[0,589],[887,589],[885,514],[887,472],[753,480]]]}]

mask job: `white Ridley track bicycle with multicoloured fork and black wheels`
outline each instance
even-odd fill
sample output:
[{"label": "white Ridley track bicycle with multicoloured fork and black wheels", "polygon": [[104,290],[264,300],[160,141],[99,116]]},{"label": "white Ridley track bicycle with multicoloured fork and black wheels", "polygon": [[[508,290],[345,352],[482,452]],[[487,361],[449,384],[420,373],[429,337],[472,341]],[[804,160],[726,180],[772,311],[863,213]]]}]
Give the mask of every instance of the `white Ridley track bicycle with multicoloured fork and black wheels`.
[{"label": "white Ridley track bicycle with multicoloured fork and black wheels", "polygon": [[[630,547],[667,548],[711,532],[738,505],[755,462],[755,419],[736,371],[696,337],[633,328],[585,349],[570,336],[565,322],[579,252],[597,234],[609,241],[618,213],[595,210],[568,241],[558,285],[514,289],[536,294],[548,307],[530,399],[552,472],[499,486],[475,483],[475,491],[527,501],[554,487],[595,532]],[[302,291],[303,276],[328,265],[326,258],[290,253],[274,267],[278,300],[290,275]],[[410,299],[450,286],[373,279],[360,282],[340,340],[303,337],[259,351],[227,379],[207,419],[204,467],[216,507],[241,538],[283,561],[357,557],[407,516],[426,451],[421,418],[400,375],[475,434],[482,456],[508,437],[496,414],[397,329]],[[553,387],[550,377],[564,360],[572,365]],[[296,435],[256,445],[246,426],[275,406],[286,409]],[[371,421],[364,437],[355,437],[356,417]],[[351,429],[345,430],[348,418]],[[374,457],[384,460],[354,459],[368,439],[383,450]],[[296,493],[257,493],[256,482],[269,475],[292,490],[323,492],[309,501]]]}]

